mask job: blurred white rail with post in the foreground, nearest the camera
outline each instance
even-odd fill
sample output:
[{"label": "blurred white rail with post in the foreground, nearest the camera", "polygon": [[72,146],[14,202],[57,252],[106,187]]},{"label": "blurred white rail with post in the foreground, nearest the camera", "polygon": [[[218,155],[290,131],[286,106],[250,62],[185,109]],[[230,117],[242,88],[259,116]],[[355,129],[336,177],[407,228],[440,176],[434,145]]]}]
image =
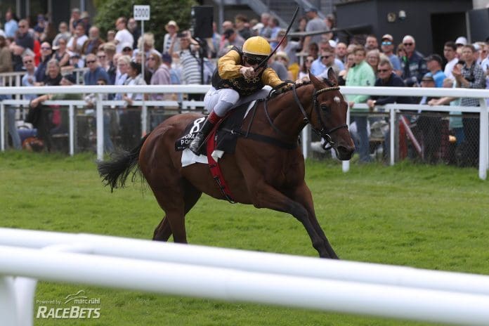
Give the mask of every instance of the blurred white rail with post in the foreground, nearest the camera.
[{"label": "blurred white rail with post in the foreground, nearest the camera", "polygon": [[37,280],[489,325],[489,276],[0,228],[0,320],[32,326]]}]

